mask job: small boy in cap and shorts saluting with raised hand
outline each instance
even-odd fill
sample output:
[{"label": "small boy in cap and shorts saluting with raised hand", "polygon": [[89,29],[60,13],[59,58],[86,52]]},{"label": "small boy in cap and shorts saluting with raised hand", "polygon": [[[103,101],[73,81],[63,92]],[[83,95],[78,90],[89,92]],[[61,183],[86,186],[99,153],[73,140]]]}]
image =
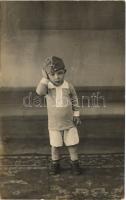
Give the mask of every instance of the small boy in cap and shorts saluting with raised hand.
[{"label": "small boy in cap and shorts saluting with raised hand", "polygon": [[74,87],[64,79],[65,73],[65,65],[61,58],[48,57],[44,62],[43,78],[36,92],[38,95],[45,95],[47,100],[52,155],[50,173],[60,173],[59,148],[65,143],[70,154],[72,172],[78,175],[81,173],[77,153],[79,135],[76,128],[81,123],[79,105]]}]

